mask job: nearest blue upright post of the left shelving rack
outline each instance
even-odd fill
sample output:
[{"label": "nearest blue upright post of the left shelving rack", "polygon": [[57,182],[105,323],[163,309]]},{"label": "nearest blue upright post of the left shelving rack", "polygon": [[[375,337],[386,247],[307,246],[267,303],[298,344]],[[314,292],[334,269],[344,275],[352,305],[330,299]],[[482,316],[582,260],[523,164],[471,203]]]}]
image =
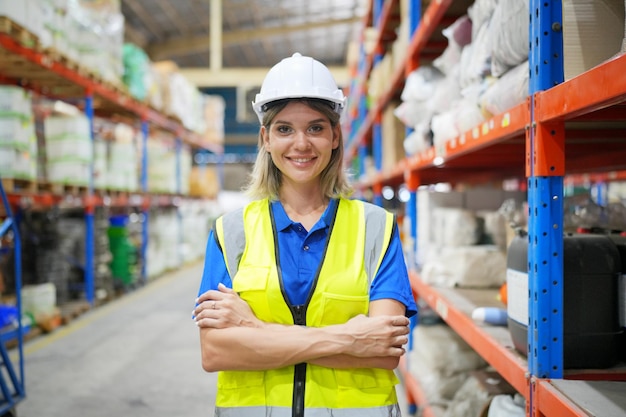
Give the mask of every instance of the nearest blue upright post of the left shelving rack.
[{"label": "nearest blue upright post of the left shelving rack", "polygon": [[89,135],[91,137],[92,156],[89,162],[89,186],[87,187],[87,199],[85,201],[85,298],[90,305],[95,303],[95,222],[94,222],[94,110],[93,93],[87,92],[85,97],[85,115],[89,121]]}]

